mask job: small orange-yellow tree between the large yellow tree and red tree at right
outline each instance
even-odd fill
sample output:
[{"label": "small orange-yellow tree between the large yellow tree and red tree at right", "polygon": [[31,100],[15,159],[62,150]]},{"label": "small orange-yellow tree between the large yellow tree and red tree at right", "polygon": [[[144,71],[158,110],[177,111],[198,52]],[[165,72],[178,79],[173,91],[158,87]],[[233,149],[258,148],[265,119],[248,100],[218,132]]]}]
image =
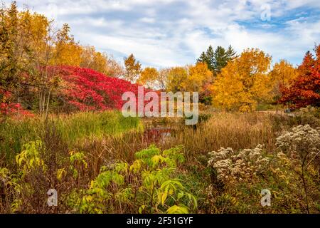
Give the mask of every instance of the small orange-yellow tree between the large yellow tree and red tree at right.
[{"label": "small orange-yellow tree between the large yellow tree and red tree at right", "polygon": [[271,91],[274,100],[278,100],[281,91],[281,87],[289,87],[297,78],[297,69],[292,66],[291,63],[280,60],[279,63],[275,63],[272,71],[270,72],[270,82],[272,83],[273,89]]}]

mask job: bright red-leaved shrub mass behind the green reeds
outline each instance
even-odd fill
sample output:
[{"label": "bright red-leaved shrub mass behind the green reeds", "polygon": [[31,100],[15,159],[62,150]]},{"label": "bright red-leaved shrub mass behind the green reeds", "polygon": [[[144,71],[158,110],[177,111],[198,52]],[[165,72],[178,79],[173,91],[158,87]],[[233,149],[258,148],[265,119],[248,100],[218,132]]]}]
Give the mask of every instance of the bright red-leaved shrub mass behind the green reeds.
[{"label": "bright red-leaved shrub mass behind the green reeds", "polygon": [[[50,67],[50,71],[58,73],[63,80],[59,95],[78,110],[121,110],[125,102],[122,100],[124,92],[133,92],[137,98],[138,84],[108,77],[92,69],[55,66]],[[144,89],[144,93],[147,91]]]}]

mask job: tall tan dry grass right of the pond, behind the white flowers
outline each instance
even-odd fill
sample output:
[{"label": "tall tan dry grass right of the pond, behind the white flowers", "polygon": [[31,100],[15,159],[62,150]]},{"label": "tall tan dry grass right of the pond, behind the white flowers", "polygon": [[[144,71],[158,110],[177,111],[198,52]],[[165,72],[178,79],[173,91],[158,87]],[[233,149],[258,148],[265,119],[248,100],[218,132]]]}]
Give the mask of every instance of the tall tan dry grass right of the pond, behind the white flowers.
[{"label": "tall tan dry grass right of the pond, behind the white flowers", "polygon": [[172,143],[185,145],[188,152],[206,154],[220,147],[240,150],[257,144],[264,144],[268,150],[272,150],[274,138],[270,114],[214,113],[196,129],[183,128],[178,131]]}]

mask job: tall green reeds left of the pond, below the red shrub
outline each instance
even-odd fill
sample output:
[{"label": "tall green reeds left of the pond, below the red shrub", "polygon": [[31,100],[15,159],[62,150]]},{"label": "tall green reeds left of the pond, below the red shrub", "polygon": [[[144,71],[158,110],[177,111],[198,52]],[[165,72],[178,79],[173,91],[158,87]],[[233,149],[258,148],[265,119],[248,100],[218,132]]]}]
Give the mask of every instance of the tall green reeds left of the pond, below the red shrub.
[{"label": "tall green reeds left of the pond, below the red shrub", "polygon": [[[119,111],[100,113],[82,112],[72,115],[51,115],[49,125],[54,125],[63,142],[69,147],[81,140],[121,135],[130,130],[142,130],[139,118],[124,118]],[[21,152],[24,143],[41,138],[45,121],[40,117],[8,120],[0,125],[0,157],[6,160]]]}]

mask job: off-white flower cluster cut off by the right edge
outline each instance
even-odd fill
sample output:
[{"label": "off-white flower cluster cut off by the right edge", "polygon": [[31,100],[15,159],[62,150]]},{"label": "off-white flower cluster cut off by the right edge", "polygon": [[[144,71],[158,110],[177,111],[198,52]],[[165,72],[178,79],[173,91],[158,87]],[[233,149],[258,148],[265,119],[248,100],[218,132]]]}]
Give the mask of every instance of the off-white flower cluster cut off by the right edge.
[{"label": "off-white flower cluster cut off by the right edge", "polygon": [[276,141],[277,149],[287,155],[316,155],[320,152],[320,128],[299,125],[291,132],[280,135]]}]

